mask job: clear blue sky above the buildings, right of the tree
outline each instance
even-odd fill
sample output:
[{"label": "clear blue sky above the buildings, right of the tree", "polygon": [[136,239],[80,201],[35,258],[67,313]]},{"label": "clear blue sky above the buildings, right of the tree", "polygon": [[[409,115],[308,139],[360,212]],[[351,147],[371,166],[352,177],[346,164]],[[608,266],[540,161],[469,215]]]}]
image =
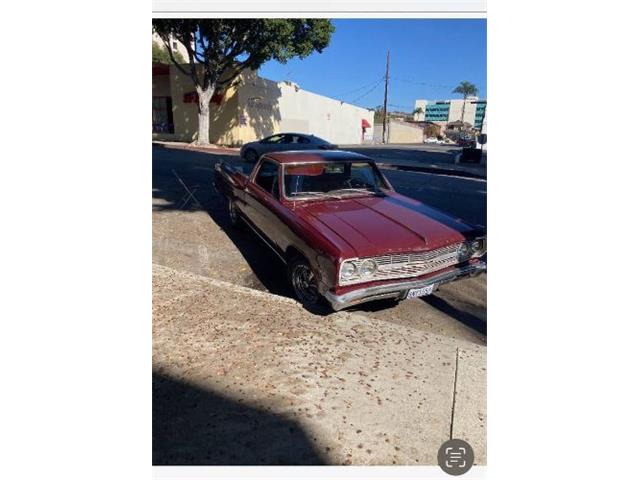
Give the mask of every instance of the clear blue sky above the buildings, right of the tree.
[{"label": "clear blue sky above the buildings, right of the tree", "polygon": [[391,110],[411,111],[415,100],[458,98],[462,80],[486,98],[487,22],[482,19],[339,19],[322,53],[282,65],[264,64],[271,80],[291,80],[305,90],[364,107],[381,105],[387,49],[391,51]]}]

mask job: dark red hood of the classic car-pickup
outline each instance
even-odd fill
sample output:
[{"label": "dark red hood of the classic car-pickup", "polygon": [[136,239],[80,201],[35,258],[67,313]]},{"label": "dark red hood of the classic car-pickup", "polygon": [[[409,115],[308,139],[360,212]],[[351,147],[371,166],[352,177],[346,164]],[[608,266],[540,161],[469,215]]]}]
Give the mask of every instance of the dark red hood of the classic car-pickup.
[{"label": "dark red hood of the classic car-pickup", "polygon": [[395,192],[341,200],[297,202],[298,215],[340,248],[343,258],[433,250],[473,230]]}]

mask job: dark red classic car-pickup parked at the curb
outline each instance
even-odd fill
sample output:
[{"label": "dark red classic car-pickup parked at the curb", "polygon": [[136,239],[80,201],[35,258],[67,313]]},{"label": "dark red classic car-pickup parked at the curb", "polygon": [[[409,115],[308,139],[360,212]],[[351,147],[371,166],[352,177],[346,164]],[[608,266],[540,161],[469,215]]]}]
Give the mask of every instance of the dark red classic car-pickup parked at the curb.
[{"label": "dark red classic car-pickup parked at the curb", "polygon": [[486,270],[482,229],[396,193],[369,157],[275,152],[247,173],[219,163],[214,183],[232,224],[271,247],[303,304],[420,297]]}]

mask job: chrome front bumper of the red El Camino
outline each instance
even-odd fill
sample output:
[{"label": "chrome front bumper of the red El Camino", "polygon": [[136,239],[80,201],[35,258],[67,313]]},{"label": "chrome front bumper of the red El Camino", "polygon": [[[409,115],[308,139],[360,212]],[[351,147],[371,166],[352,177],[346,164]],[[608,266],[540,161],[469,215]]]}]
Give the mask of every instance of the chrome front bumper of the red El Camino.
[{"label": "chrome front bumper of the red El Camino", "polygon": [[342,310],[344,308],[357,305],[359,303],[369,302],[372,300],[380,300],[383,298],[392,298],[403,300],[407,298],[409,290],[412,288],[421,288],[428,285],[442,285],[444,283],[453,282],[463,277],[473,277],[487,270],[485,262],[474,262],[460,267],[456,267],[446,272],[436,274],[429,278],[421,280],[404,280],[385,285],[376,285],[374,287],[365,287],[359,290],[353,290],[343,295],[336,295],[331,292],[324,294],[327,301],[334,310]]}]

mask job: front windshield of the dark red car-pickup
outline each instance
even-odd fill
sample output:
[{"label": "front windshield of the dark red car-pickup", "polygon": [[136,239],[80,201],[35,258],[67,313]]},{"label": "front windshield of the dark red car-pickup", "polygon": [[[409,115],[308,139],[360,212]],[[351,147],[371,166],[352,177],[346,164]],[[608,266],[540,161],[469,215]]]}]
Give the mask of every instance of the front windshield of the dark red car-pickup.
[{"label": "front windshield of the dark red car-pickup", "polygon": [[367,162],[326,162],[286,165],[288,197],[372,195],[386,188],[378,170]]}]

